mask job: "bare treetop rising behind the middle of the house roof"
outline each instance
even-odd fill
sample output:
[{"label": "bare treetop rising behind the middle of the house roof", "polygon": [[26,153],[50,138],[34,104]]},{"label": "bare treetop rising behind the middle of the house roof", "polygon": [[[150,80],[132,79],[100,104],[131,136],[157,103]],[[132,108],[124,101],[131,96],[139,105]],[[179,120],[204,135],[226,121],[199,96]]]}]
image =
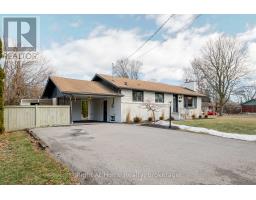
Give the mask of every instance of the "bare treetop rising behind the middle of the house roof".
[{"label": "bare treetop rising behind the middle of the house roof", "polygon": [[142,62],[138,60],[129,60],[128,58],[122,58],[116,61],[112,66],[112,74],[118,77],[139,79],[140,68]]}]

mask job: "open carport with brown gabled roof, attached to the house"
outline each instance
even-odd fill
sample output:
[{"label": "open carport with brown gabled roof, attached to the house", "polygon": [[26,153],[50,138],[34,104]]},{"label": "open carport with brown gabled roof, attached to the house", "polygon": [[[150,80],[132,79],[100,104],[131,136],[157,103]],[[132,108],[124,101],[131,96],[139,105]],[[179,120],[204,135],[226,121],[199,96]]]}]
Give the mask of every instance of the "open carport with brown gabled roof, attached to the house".
[{"label": "open carport with brown gabled roof, attached to the house", "polygon": [[[121,121],[121,94],[96,81],[50,77],[42,98],[53,98],[56,105],[70,105],[71,122],[84,120]],[[82,117],[82,101],[88,102],[88,117]]]}]

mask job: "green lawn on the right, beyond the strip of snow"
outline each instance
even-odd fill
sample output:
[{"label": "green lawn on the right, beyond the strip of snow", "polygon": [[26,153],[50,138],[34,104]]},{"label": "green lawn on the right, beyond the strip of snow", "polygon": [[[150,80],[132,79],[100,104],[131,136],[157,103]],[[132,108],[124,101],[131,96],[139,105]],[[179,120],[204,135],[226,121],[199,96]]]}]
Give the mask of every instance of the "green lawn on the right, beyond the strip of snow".
[{"label": "green lawn on the right, beyond the strip of snow", "polygon": [[256,116],[233,115],[209,119],[176,121],[176,124],[204,127],[228,133],[256,135]]}]

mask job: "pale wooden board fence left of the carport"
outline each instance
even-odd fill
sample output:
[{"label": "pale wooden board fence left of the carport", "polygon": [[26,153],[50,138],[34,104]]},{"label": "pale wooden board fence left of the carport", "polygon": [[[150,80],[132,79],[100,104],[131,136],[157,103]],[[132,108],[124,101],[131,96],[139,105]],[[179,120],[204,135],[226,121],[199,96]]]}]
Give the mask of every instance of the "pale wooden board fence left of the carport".
[{"label": "pale wooden board fence left of the carport", "polygon": [[70,124],[70,106],[4,107],[6,131],[68,124]]}]

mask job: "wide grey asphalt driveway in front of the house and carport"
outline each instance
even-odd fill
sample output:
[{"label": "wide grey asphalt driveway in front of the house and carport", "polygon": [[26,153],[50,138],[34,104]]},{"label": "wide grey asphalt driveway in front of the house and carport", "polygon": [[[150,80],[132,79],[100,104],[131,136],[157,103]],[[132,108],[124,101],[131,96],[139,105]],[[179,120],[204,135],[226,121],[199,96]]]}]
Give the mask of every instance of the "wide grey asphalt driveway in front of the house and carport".
[{"label": "wide grey asphalt driveway in front of the house and carport", "polygon": [[256,184],[256,143],[126,124],[33,129],[82,184]]}]

